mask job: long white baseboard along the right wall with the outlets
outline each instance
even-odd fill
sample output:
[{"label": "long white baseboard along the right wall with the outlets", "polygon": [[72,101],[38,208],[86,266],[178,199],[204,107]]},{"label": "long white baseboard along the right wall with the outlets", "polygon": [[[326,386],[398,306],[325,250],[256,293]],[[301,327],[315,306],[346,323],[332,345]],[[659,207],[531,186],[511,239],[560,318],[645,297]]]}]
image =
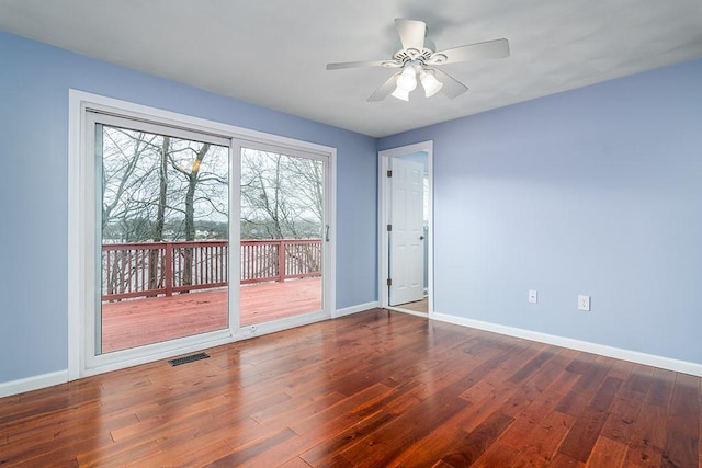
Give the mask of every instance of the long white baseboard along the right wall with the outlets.
[{"label": "long white baseboard along the right wall with the outlets", "polygon": [[639,353],[637,351],[622,350],[620,347],[607,346],[603,344],[590,343],[588,341],[574,340],[570,338],[540,333],[535,331],[506,327],[479,320],[466,319],[463,317],[450,316],[448,313],[434,312],[430,316],[430,318],[441,322],[475,328],[478,330],[506,334],[508,336],[521,338],[524,340],[536,341],[539,343],[553,344],[555,346],[568,347],[576,351],[584,351],[586,353],[600,354],[602,356],[614,357],[616,359],[629,361],[636,364],[644,364],[647,366],[660,367],[668,370],[702,377],[702,364],[657,356],[654,354]]}]

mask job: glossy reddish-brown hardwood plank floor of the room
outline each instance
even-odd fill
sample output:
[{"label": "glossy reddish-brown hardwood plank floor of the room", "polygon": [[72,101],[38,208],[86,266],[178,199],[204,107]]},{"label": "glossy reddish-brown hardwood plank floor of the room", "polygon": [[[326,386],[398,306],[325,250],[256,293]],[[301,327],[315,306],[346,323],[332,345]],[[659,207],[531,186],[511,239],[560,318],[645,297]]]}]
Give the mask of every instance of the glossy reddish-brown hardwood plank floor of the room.
[{"label": "glossy reddish-brown hardwood plank floor of the room", "polygon": [[0,399],[0,466],[697,467],[700,378],[374,309]]}]

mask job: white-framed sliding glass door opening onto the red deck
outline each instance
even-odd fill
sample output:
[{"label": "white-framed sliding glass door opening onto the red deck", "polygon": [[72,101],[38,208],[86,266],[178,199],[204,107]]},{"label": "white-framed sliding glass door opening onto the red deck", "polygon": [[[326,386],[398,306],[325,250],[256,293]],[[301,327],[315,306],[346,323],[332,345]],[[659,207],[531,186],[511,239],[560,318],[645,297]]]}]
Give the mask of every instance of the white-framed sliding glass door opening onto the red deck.
[{"label": "white-framed sliding glass door opening onto the red deck", "polygon": [[70,96],[71,378],[332,316],[333,148]]}]

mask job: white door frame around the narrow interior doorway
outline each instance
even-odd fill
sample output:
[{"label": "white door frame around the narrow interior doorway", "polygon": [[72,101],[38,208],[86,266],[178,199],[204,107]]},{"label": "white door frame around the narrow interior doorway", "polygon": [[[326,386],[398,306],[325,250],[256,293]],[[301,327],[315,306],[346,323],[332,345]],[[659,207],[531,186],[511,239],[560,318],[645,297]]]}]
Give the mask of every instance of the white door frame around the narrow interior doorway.
[{"label": "white door frame around the narrow interior doorway", "polygon": [[[434,261],[433,261],[433,244],[434,244],[434,232],[433,232],[433,141],[421,141],[414,145],[401,146],[398,148],[385,149],[383,151],[378,151],[377,160],[378,160],[378,296],[381,307],[386,309],[396,309],[401,310],[408,313],[417,313],[411,312],[401,308],[394,308],[389,306],[389,297],[387,294],[387,274],[389,271],[388,265],[388,237],[387,237],[387,218],[388,218],[388,201],[389,201],[389,191],[387,187],[387,170],[389,168],[390,158],[409,155],[412,152],[423,151],[427,153],[427,172],[429,179],[429,227],[428,227],[428,237],[429,237],[429,246],[428,246],[428,294],[429,294],[429,317],[433,316],[434,312]],[[423,316],[421,313],[417,313]]]}]

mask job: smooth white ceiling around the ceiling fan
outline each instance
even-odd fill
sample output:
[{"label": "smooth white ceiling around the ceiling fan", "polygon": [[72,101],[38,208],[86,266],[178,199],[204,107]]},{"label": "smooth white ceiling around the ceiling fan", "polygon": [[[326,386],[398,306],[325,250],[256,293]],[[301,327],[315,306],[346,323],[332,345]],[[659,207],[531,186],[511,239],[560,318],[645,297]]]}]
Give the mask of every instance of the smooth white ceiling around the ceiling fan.
[{"label": "smooth white ceiling around the ceiling fan", "polygon": [[[394,70],[327,71],[399,49],[505,37],[511,56],[443,66],[469,91],[366,102]],[[0,30],[382,137],[702,56],[702,0],[0,0]]]}]

